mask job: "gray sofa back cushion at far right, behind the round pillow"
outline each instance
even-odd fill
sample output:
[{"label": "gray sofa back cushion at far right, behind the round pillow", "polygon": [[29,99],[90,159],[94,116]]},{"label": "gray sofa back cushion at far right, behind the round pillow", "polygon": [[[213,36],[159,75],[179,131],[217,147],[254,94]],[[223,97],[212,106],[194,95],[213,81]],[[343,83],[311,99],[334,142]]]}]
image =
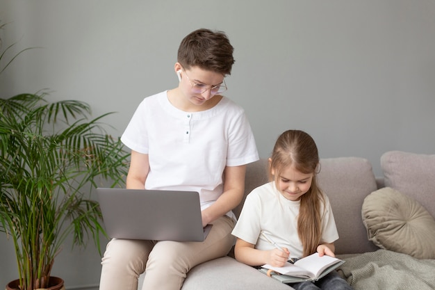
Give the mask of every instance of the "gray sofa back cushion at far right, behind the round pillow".
[{"label": "gray sofa back cushion at far right, behind the round pillow", "polygon": [[386,152],[381,156],[381,168],[386,187],[417,200],[435,218],[435,155]]}]

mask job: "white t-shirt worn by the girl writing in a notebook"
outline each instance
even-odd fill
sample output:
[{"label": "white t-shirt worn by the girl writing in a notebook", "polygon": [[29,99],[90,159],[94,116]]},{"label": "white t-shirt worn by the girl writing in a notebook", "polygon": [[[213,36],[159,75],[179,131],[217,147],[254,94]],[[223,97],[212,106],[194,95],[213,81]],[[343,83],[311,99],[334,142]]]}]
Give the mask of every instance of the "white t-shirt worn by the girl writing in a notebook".
[{"label": "white t-shirt worn by the girl writing in a notebook", "polygon": [[[297,216],[300,201],[284,198],[274,182],[255,188],[245,200],[233,236],[255,245],[258,250],[272,250],[261,232],[280,247],[288,248],[290,257],[302,257],[303,245],[297,234]],[[325,195],[325,216],[322,218],[321,243],[332,243],[338,239],[338,232],[331,204]]]}]

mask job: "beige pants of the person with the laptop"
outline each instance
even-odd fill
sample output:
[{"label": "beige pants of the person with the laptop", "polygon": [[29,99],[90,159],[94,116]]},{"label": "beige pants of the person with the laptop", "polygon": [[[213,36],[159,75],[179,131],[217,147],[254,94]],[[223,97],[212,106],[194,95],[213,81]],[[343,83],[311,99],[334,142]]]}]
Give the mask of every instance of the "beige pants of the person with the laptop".
[{"label": "beige pants of the person with the laptop", "polygon": [[227,255],[234,242],[235,221],[222,216],[204,242],[112,239],[101,260],[100,290],[136,290],[146,271],[142,290],[179,290],[194,266]]}]

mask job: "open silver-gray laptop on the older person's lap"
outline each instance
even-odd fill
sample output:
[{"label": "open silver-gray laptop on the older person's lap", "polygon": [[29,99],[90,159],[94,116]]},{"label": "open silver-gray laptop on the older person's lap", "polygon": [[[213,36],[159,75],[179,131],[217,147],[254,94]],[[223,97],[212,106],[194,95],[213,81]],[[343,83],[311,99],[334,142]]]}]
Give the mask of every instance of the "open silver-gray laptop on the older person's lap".
[{"label": "open silver-gray laptop on the older person's lap", "polygon": [[108,236],[117,239],[204,241],[199,193],[97,188]]}]

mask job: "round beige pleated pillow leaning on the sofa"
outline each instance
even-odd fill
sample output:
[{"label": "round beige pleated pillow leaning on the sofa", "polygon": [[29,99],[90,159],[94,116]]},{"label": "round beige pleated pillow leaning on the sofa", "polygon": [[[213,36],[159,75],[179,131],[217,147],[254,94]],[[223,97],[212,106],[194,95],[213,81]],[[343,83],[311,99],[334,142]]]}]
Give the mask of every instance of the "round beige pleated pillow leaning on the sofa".
[{"label": "round beige pleated pillow leaning on the sofa", "polygon": [[435,259],[435,220],[413,198],[381,188],[364,199],[361,214],[369,239],[379,248]]}]

